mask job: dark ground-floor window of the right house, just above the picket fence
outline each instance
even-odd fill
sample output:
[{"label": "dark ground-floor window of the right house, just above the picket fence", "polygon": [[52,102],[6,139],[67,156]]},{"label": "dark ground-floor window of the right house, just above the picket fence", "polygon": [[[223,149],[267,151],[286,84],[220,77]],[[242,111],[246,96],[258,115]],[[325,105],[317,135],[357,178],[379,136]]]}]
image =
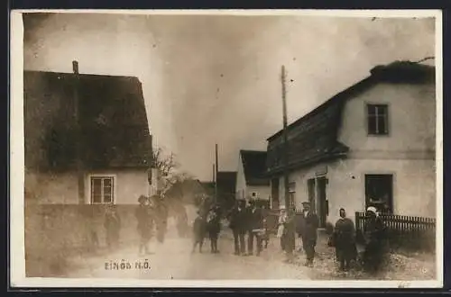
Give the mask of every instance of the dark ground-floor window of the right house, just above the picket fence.
[{"label": "dark ground-floor window of the right house, just above the picket fence", "polygon": [[365,175],[366,207],[374,206],[384,213],[392,212],[393,175]]}]

